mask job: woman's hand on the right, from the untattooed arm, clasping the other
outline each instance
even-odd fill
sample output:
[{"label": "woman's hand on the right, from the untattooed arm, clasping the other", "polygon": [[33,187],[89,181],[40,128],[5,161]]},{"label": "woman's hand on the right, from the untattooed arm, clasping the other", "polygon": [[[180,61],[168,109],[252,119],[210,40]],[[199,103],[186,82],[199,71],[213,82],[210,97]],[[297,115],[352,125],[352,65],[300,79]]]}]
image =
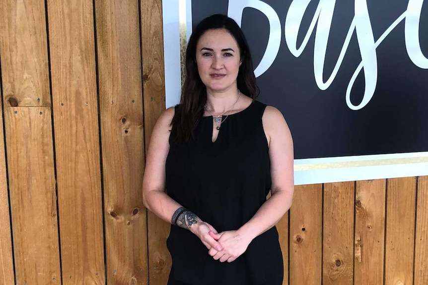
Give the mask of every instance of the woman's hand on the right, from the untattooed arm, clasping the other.
[{"label": "woman's hand on the right, from the untattooed arm, clasping the other", "polygon": [[210,235],[220,243],[222,250],[217,251],[215,248],[211,248],[208,253],[220,262],[234,261],[247,250],[252,240],[237,230],[226,230],[220,233],[210,231]]}]

